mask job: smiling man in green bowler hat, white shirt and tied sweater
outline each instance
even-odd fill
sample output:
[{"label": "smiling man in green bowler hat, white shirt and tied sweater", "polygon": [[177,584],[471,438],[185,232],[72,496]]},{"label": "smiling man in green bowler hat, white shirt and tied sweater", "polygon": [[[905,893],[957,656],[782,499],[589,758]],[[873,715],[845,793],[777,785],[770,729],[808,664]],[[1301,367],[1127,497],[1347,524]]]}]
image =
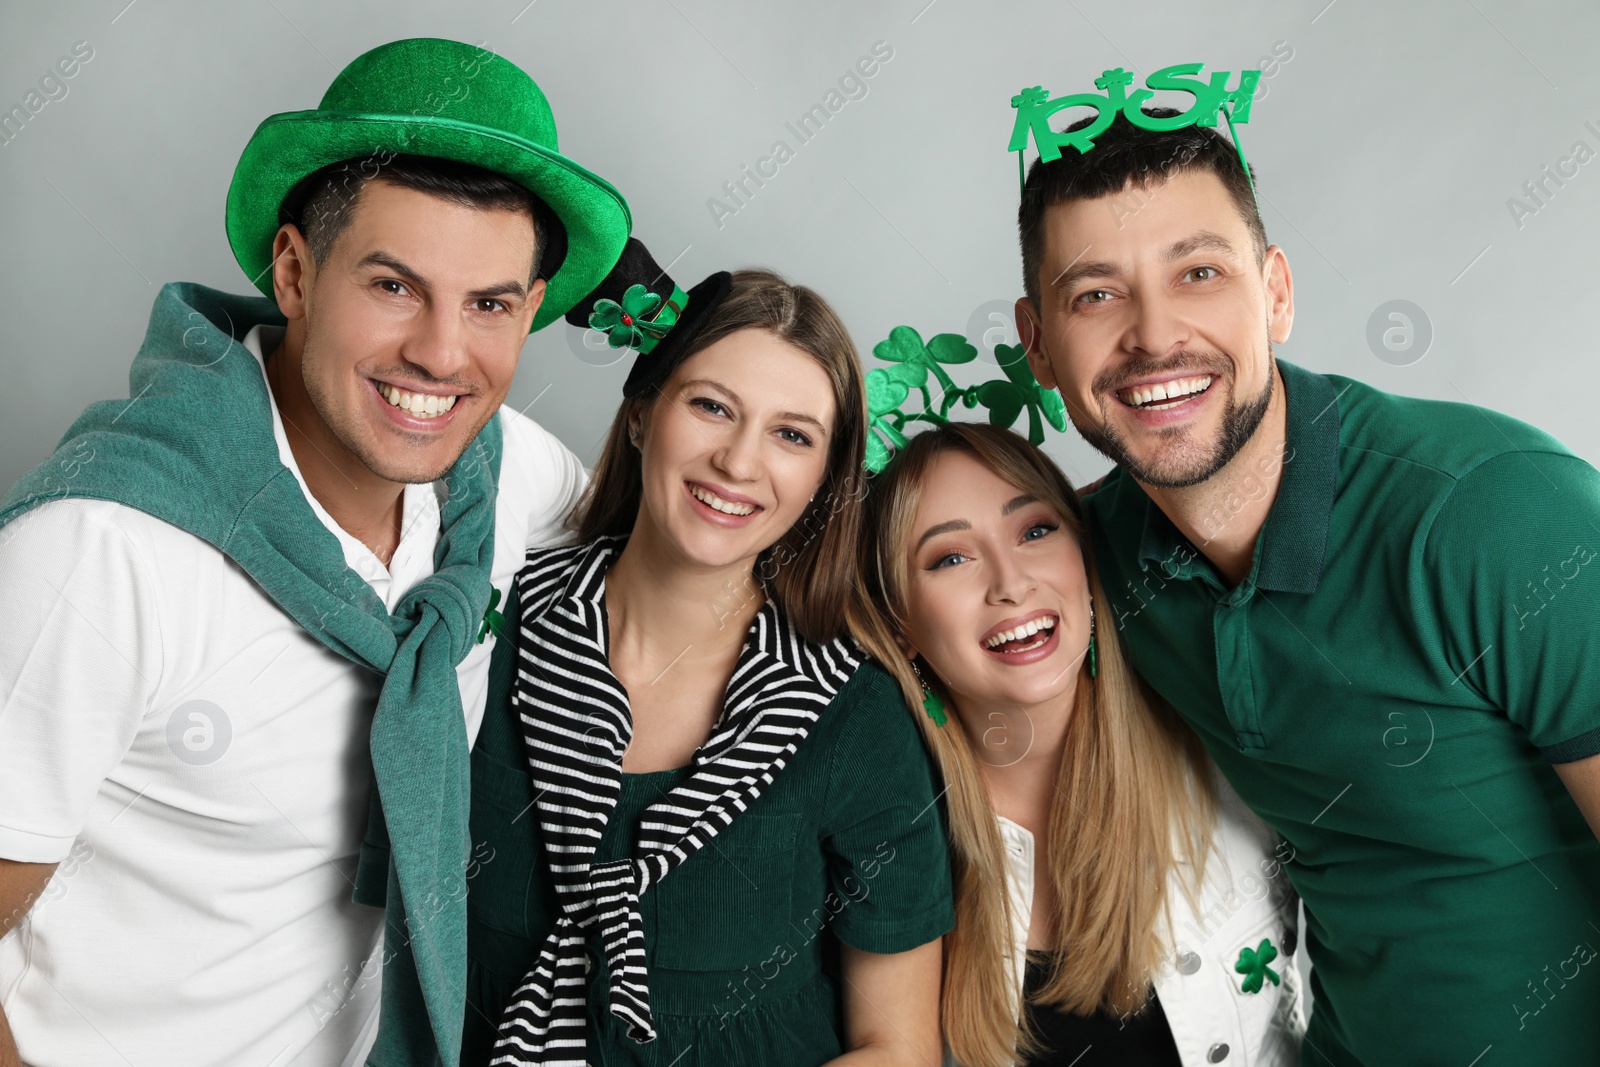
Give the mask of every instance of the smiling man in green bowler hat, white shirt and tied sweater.
[{"label": "smiling man in green bowler hat, white shirt and tied sweater", "polygon": [[494,608],[586,482],[501,405],[629,226],[469,45],[261,123],[267,299],[165,286],[0,501],[0,1064],[456,1062]]}]

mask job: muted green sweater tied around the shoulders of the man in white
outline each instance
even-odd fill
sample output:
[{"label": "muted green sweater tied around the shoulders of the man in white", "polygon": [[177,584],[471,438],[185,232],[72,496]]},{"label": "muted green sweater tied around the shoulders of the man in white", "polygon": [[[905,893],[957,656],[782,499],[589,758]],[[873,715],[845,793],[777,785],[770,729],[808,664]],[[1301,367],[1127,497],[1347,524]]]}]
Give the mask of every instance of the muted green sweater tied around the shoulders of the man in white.
[{"label": "muted green sweater tied around the shoulders of the man in white", "polygon": [[[90,405],[0,499],[0,526],[61,498],[114,501],[202,537],[323,645],[382,675],[376,782],[355,899],[386,909],[382,1008],[370,1064],[456,1067],[466,1006],[469,752],[456,664],[490,603],[501,427],[446,475],[435,571],[390,614],[344,563],[278,459],[267,384],[240,339],[282,325],[272,301],[162,288],[131,400]],[[0,533],[0,539],[5,534]],[[446,891],[442,891],[446,889]]]}]

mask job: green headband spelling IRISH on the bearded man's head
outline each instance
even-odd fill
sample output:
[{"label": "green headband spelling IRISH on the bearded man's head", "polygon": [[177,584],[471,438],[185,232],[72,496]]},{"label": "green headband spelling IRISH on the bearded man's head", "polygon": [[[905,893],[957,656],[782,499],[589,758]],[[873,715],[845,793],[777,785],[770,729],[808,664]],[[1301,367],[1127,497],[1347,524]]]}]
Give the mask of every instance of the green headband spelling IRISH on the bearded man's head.
[{"label": "green headband spelling IRISH on the bearded man's head", "polygon": [[[1016,152],[1018,184],[1027,184],[1022,152],[1027,149],[1029,133],[1034,134],[1034,147],[1038,149],[1038,158],[1050,163],[1061,158],[1062,147],[1070,146],[1078,154],[1086,154],[1093,149],[1094,138],[1110,128],[1110,123],[1117,118],[1117,112],[1122,112],[1139,130],[1152,131],[1214,126],[1216,115],[1221,112],[1227,120],[1227,133],[1234,139],[1234,150],[1238,152],[1238,165],[1245,168],[1245,178],[1250,181],[1250,195],[1254,197],[1256,179],[1250,178],[1250,163],[1245,162],[1245,149],[1238,144],[1238,130],[1234,123],[1250,122],[1250,106],[1256,98],[1256,83],[1261,80],[1261,70],[1240,70],[1238,86],[1229,90],[1227,78],[1230,72],[1227,70],[1213,70],[1210,82],[1192,77],[1200,74],[1203,66],[1203,62],[1179,62],[1171,67],[1162,67],[1144,80],[1149,88],[1134,90],[1133,93],[1126,91],[1133,85],[1133,74],[1122,67],[1104,70],[1101,77],[1094,78],[1094,88],[1102,90],[1104,96],[1096,93],[1072,93],[1070,96],[1050,99],[1050,93],[1040,85],[1022,90],[1011,98],[1011,107],[1016,109],[1016,122],[1011,126],[1011,147],[1006,149],[1008,152]],[[1160,91],[1189,93],[1195,98],[1195,102],[1181,115],[1166,115],[1162,118],[1146,115],[1144,102]],[[1066,107],[1093,107],[1094,122],[1082,130],[1051,130],[1050,117]]]}]

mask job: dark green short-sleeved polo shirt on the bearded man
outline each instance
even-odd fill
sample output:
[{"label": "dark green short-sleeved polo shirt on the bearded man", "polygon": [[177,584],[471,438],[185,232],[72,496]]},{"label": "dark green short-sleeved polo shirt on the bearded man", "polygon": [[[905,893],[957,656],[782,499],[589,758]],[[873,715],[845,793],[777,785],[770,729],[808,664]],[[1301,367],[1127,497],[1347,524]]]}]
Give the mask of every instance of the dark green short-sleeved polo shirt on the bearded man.
[{"label": "dark green short-sleeved polo shirt on the bearded man", "polygon": [[1085,504],[1134,667],[1294,849],[1301,1064],[1600,1062],[1600,843],[1550,768],[1600,752],[1600,474],[1483,408],[1278,368],[1238,585],[1120,469]]}]

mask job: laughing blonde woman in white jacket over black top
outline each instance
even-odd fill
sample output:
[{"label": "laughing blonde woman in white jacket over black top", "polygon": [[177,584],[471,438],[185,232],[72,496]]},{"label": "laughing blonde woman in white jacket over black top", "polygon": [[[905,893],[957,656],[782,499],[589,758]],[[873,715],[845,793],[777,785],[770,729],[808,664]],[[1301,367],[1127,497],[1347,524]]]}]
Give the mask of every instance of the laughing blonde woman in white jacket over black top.
[{"label": "laughing blonde woman in white jacket over black top", "polygon": [[867,502],[859,629],[947,785],[949,1059],[1294,1064],[1291,857],[1126,665],[1061,470],[955,422]]}]

